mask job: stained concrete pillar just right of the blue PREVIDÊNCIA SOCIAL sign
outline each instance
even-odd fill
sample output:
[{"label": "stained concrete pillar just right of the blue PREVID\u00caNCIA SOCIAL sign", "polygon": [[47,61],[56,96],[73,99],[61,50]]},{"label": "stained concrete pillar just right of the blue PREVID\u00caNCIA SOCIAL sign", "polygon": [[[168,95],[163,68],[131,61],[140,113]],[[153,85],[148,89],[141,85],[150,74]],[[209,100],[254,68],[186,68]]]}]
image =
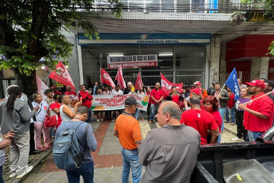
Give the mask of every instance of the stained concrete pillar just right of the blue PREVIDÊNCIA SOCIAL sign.
[{"label": "stained concrete pillar just right of the blue PREVID\u00caNCIA SOCIAL sign", "polygon": [[219,81],[220,36],[211,37],[209,83]]}]

